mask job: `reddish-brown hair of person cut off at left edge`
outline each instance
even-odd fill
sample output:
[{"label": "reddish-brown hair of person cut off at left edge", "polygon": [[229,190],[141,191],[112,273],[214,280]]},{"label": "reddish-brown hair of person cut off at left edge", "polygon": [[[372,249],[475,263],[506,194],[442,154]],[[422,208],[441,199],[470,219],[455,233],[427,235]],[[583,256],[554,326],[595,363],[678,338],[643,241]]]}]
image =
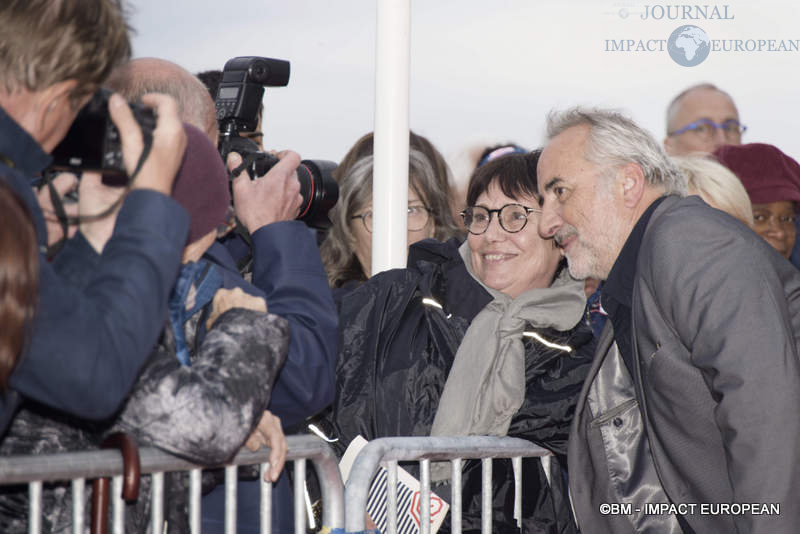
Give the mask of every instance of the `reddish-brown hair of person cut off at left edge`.
[{"label": "reddish-brown hair of person cut off at left edge", "polygon": [[22,354],[38,287],[39,254],[30,214],[0,178],[0,391]]}]

